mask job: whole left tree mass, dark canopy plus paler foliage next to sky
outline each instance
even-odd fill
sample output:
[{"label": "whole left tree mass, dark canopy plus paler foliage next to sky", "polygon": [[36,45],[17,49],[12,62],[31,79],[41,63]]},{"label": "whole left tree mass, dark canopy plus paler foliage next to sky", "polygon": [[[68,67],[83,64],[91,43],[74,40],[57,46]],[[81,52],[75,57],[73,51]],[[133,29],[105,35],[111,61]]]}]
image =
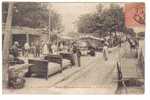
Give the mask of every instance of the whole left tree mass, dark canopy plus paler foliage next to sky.
[{"label": "whole left tree mass, dark canopy plus paler foliage next to sky", "polygon": [[[25,26],[31,28],[48,28],[49,10],[48,3],[40,2],[18,2],[14,5],[13,26]],[[3,2],[2,18],[6,22],[8,2]],[[61,16],[54,10],[51,10],[51,29],[63,31]]]}]

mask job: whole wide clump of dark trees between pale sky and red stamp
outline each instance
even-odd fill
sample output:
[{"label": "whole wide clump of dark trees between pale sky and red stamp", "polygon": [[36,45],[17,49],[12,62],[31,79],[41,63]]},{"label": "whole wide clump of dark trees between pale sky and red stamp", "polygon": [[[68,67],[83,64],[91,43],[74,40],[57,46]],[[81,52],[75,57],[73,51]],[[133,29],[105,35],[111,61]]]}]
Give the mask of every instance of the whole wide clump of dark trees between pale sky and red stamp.
[{"label": "whole wide clump of dark trees between pale sky and red stamp", "polygon": [[109,9],[103,9],[103,5],[96,6],[96,13],[82,15],[78,22],[78,32],[98,33],[100,37],[111,35],[112,32],[123,32],[124,13],[123,9],[115,4],[111,4]]}]

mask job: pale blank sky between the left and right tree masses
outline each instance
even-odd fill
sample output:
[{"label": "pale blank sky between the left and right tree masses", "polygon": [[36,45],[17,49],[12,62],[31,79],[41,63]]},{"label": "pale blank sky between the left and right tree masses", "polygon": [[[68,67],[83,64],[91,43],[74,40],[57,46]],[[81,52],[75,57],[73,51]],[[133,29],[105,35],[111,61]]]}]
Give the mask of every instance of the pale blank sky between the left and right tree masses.
[{"label": "pale blank sky between the left and right tree masses", "polygon": [[[96,11],[98,3],[52,3],[52,9],[56,10],[62,16],[64,33],[76,32],[75,22],[82,14],[93,13]],[[105,3],[104,7],[109,4]]]}]

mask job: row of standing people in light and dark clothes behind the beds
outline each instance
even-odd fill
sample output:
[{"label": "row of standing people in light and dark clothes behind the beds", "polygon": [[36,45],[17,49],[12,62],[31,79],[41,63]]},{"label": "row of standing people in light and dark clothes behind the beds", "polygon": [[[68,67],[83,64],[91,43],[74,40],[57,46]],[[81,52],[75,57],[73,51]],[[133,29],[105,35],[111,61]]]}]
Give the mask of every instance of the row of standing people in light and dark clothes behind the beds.
[{"label": "row of standing people in light and dark clothes behind the beds", "polygon": [[60,41],[51,43],[50,41],[36,41],[31,44],[26,42],[24,43],[24,46],[20,47],[19,42],[15,41],[10,48],[10,54],[14,57],[40,57],[48,54],[59,54],[62,52],[75,53],[77,50],[76,48],[76,42],[65,43],[64,41]]}]

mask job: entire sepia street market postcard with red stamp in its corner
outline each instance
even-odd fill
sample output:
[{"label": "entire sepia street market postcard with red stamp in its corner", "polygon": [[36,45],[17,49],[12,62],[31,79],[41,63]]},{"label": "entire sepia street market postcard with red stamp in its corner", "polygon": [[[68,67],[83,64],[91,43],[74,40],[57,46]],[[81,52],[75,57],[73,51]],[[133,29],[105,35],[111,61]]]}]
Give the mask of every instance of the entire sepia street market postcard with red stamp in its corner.
[{"label": "entire sepia street market postcard with red stamp in its corner", "polygon": [[3,94],[144,94],[144,3],[2,2]]}]

